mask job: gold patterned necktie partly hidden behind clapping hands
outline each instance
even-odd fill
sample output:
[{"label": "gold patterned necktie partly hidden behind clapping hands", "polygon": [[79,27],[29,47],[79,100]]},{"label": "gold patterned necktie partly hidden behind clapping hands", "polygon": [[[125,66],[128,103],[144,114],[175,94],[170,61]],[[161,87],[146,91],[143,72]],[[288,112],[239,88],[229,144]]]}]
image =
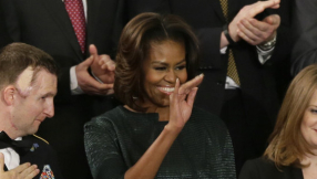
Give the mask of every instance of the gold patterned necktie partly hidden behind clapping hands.
[{"label": "gold patterned necktie partly hidden behind clapping hands", "polygon": [[[223,9],[224,17],[225,17],[226,21],[228,22],[228,0],[219,0],[219,1],[221,1],[221,6],[222,6],[222,9]],[[241,85],[233,50],[231,48],[228,48],[228,50],[229,50],[229,54],[228,54],[227,75],[237,85]]]}]

